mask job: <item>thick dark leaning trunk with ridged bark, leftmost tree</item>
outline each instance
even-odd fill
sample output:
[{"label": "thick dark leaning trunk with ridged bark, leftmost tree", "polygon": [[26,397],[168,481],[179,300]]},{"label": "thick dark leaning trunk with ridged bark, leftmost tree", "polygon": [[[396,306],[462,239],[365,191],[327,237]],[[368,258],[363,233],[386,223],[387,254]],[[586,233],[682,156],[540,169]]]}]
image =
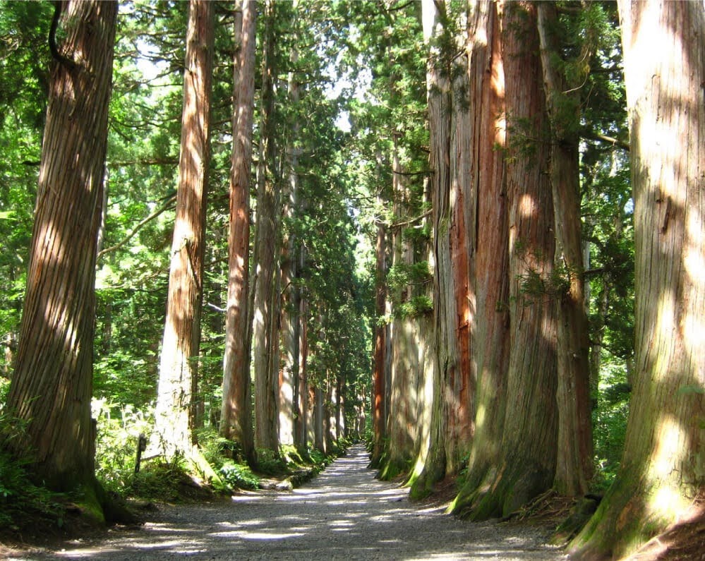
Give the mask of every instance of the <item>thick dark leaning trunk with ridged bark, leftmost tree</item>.
[{"label": "thick dark leaning trunk with ridged bark, leftmost tree", "polygon": [[[57,4],[66,39],[50,43],[35,224],[8,409],[28,422],[10,445],[49,488],[98,488],[91,419],[95,263],[107,147],[117,4]],[[60,12],[59,12],[60,10]]]}]

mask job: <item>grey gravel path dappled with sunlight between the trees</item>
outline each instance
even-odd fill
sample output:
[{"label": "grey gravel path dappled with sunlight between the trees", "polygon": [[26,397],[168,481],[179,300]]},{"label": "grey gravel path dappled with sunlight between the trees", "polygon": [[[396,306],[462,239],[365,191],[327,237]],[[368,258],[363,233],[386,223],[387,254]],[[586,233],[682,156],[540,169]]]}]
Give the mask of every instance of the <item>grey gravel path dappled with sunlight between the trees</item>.
[{"label": "grey gravel path dappled with sunlight between the trees", "polygon": [[310,483],[215,505],[167,506],[140,529],[73,541],[15,559],[152,560],[559,560],[536,528],[471,524],[418,507],[408,490],[377,481],[362,446]]}]

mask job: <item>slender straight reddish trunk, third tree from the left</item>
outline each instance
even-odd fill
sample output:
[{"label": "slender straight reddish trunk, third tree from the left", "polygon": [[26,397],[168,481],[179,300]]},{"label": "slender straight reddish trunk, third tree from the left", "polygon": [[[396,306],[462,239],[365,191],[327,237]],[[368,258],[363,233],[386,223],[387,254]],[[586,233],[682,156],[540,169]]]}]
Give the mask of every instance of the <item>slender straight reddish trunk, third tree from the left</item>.
[{"label": "slender straight reddish trunk, third tree from the left", "polygon": [[220,434],[240,442],[253,462],[248,313],[250,255],[250,181],[255,97],[257,2],[243,0],[241,40],[236,54],[233,153],[230,171],[229,281],[223,366]]}]

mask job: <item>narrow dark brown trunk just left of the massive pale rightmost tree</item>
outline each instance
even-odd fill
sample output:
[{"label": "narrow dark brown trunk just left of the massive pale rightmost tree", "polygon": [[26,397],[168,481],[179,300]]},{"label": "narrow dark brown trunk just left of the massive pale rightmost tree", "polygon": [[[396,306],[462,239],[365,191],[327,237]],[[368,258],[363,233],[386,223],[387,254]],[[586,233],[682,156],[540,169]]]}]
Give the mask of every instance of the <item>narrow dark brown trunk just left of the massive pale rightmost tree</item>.
[{"label": "narrow dark brown trunk just left of the massive pale rightmost tree", "polygon": [[[555,255],[561,272],[555,287],[558,358],[558,457],[554,487],[584,495],[593,475],[589,333],[585,307],[578,164],[579,85],[567,83],[555,36],[556,6],[536,4],[546,107],[550,121],[550,183],[553,190]],[[563,286],[565,283],[565,286]]]}]

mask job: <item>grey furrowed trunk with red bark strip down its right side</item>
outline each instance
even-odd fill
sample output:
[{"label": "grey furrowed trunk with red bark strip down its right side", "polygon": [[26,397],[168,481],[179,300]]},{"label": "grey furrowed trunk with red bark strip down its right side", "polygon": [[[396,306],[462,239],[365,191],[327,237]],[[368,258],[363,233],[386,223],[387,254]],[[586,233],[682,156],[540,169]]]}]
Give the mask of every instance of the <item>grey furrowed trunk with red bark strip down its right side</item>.
[{"label": "grey furrowed trunk with red bark strip down its right side", "polygon": [[[430,449],[414,493],[457,473],[472,435],[473,375],[470,361],[471,306],[466,204],[469,187],[469,113],[466,56],[450,52],[449,20],[466,25],[465,14],[452,16],[442,1],[423,2],[423,35],[430,49],[426,88],[430,131],[430,179],[433,200],[433,333],[435,382]],[[465,35],[461,40],[464,42]],[[464,48],[453,45],[453,47]],[[457,88],[457,92],[454,92]],[[459,95],[455,95],[455,94]]]}]

